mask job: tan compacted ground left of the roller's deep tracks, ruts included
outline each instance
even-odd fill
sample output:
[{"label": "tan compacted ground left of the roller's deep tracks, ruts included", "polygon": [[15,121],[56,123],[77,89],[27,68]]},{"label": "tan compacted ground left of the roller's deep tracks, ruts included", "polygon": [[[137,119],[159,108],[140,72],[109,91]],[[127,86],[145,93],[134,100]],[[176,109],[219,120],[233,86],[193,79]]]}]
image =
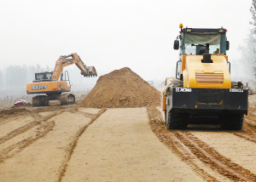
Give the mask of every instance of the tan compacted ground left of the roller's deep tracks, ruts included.
[{"label": "tan compacted ground left of the roller's deep tracks, ruts included", "polygon": [[156,137],[146,107],[22,107],[0,126],[1,181],[203,181]]}]

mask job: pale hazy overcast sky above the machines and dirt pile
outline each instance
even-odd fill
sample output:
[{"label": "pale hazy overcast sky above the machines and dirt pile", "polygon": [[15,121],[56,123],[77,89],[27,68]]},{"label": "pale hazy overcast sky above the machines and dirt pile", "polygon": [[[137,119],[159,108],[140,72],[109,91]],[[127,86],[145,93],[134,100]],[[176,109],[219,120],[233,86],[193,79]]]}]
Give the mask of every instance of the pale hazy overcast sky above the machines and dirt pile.
[{"label": "pale hazy overcast sky above the machines and dirt pile", "polygon": [[[228,30],[229,60],[246,38],[252,0],[2,0],[1,65],[49,65],[79,54],[99,75],[122,67],[145,80],[175,75],[179,24]],[[3,67],[2,67],[3,68]]]}]

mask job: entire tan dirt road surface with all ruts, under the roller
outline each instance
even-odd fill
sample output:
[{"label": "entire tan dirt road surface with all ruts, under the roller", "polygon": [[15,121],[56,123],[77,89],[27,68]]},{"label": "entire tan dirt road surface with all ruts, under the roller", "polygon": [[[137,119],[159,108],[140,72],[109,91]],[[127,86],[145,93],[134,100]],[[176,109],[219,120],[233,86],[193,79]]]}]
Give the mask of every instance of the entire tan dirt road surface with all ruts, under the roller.
[{"label": "entire tan dirt road surface with all ruts, under the roller", "polygon": [[255,181],[253,105],[239,132],[170,131],[154,106],[2,112],[0,181]]}]

